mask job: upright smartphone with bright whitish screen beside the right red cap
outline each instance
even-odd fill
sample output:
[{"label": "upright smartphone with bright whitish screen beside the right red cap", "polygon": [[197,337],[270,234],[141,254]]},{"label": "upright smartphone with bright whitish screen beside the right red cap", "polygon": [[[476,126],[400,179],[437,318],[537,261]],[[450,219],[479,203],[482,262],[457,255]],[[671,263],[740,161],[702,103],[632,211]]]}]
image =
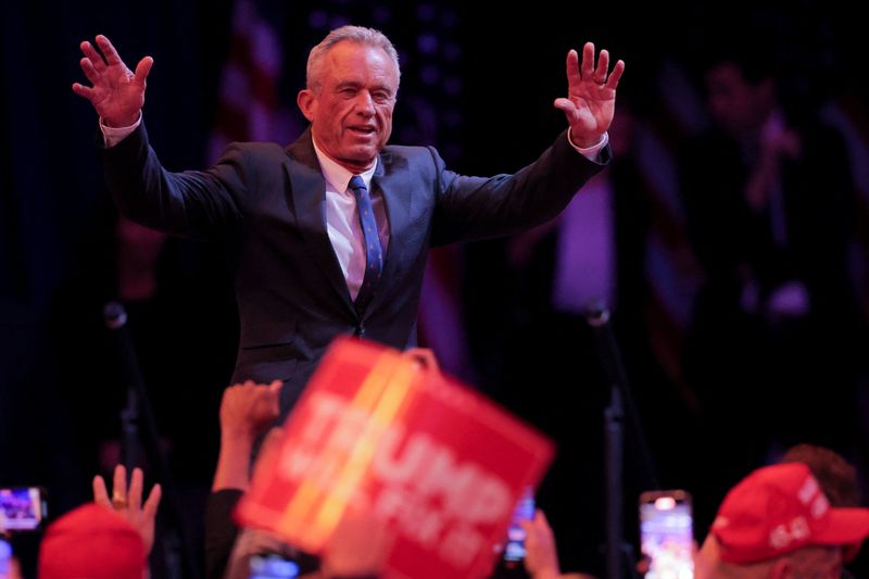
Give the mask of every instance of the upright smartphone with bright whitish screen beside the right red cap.
[{"label": "upright smartphone with bright whitish screen beside the right red cap", "polygon": [[645,579],[693,579],[694,523],[687,491],[640,494],[640,550],[648,562]]}]

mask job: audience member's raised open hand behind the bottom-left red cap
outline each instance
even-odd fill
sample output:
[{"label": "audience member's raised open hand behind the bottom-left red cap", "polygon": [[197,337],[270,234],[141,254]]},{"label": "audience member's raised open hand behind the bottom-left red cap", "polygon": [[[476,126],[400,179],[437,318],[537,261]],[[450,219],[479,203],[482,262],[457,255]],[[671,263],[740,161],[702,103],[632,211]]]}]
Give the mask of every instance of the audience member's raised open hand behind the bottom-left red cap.
[{"label": "audience member's raised open hand behind the bottom-left red cap", "polygon": [[93,502],[111,508],[136,527],[144,543],[144,552],[150,553],[154,545],[156,507],[160,505],[163,490],[160,484],[154,484],[142,504],[143,479],[142,469],[134,468],[127,489],[127,469],[119,464],[115,466],[111,499],[103,478],[100,475],[93,477]]}]

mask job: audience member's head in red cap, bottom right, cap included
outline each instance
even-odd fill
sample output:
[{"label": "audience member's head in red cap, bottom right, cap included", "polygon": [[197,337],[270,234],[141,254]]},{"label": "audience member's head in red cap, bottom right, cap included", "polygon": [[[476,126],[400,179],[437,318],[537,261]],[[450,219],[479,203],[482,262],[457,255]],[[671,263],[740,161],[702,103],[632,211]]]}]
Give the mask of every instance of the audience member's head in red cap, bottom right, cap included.
[{"label": "audience member's head in red cap, bottom right, cap included", "polygon": [[696,577],[834,578],[843,547],[867,536],[869,509],[831,507],[808,466],[765,466],[725,496],[697,556]]}]

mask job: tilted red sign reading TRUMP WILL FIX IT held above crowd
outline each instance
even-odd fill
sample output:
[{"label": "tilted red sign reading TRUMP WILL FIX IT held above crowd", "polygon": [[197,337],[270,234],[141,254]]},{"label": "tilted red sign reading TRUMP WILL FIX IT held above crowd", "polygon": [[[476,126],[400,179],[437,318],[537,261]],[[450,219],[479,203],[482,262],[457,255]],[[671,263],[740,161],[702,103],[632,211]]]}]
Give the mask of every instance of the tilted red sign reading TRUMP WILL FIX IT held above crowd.
[{"label": "tilted red sign reading TRUMP WILL FIX IT held above crowd", "polygon": [[322,554],[342,519],[362,515],[392,536],[387,579],[480,578],[553,454],[552,441],[455,379],[339,338],[236,516]]}]

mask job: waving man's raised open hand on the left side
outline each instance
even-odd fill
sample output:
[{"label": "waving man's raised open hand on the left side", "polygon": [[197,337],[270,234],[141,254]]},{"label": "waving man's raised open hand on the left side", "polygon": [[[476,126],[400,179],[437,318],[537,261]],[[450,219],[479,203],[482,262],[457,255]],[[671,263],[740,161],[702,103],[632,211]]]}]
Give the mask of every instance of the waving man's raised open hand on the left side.
[{"label": "waving man's raised open hand on the left side", "polygon": [[106,126],[128,127],[139,119],[154,59],[144,56],[134,73],[106,37],[98,35],[96,40],[99,51],[87,40],[80,45],[85,54],[79,62],[81,71],[92,86],[73,83],[73,92],[89,100]]}]

